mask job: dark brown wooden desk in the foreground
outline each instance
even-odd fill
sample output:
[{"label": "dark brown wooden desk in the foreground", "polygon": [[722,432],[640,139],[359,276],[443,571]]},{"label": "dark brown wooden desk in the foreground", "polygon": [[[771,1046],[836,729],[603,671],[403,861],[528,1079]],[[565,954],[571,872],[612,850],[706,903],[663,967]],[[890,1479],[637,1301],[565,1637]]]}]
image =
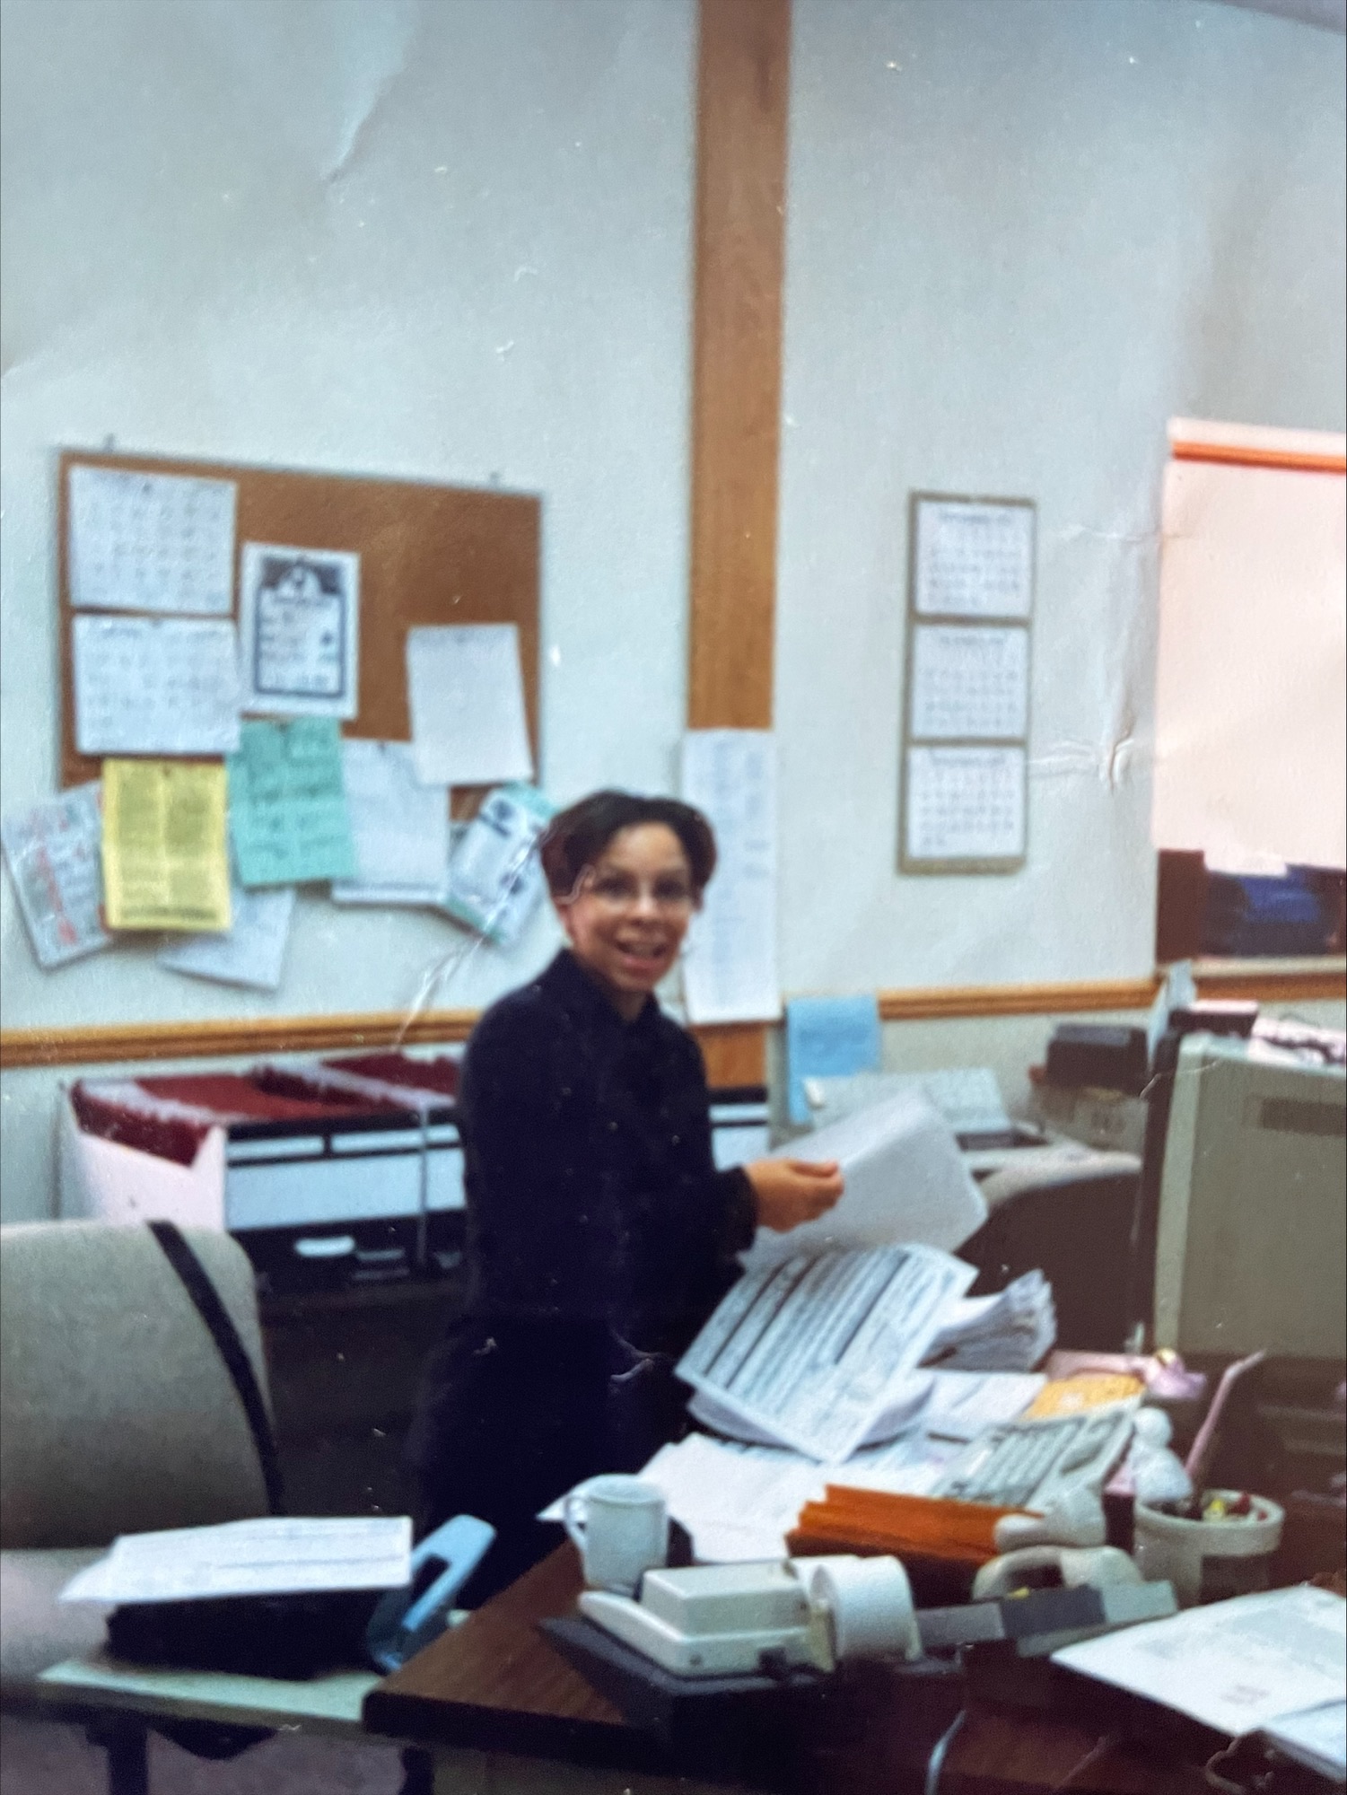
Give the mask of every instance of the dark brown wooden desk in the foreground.
[{"label": "dark brown wooden desk in the foreground", "polygon": [[[489,1754],[490,1790],[666,1788],[679,1766],[657,1741],[627,1725],[537,1632],[537,1621],[571,1612],[580,1567],[569,1545],[489,1601],[463,1626],[427,1646],[365,1698],[365,1725],[444,1750]],[[946,1716],[914,1725],[893,1673],[875,1666],[864,1705],[824,1712],[814,1738],[787,1752],[783,1775],[758,1786],[808,1795],[905,1795],[920,1790],[930,1745]],[[885,1698],[887,1678],[887,1698]],[[1198,1770],[1140,1748],[1099,1750],[1101,1734],[1056,1718],[975,1709],[954,1739],[941,1795],[1029,1795],[1069,1781],[1087,1795],[1198,1795]],[[506,1754],[506,1756],[499,1756]],[[1094,1757],[1090,1754],[1096,1754]],[[550,1768],[528,1759],[544,1759]],[[562,1766],[569,1766],[562,1770]],[[779,1768],[779,1766],[778,1766]],[[612,1772],[621,1772],[612,1779]],[[679,1781],[681,1795],[736,1784],[733,1775]],[[460,1790],[449,1772],[438,1790]]]}]

